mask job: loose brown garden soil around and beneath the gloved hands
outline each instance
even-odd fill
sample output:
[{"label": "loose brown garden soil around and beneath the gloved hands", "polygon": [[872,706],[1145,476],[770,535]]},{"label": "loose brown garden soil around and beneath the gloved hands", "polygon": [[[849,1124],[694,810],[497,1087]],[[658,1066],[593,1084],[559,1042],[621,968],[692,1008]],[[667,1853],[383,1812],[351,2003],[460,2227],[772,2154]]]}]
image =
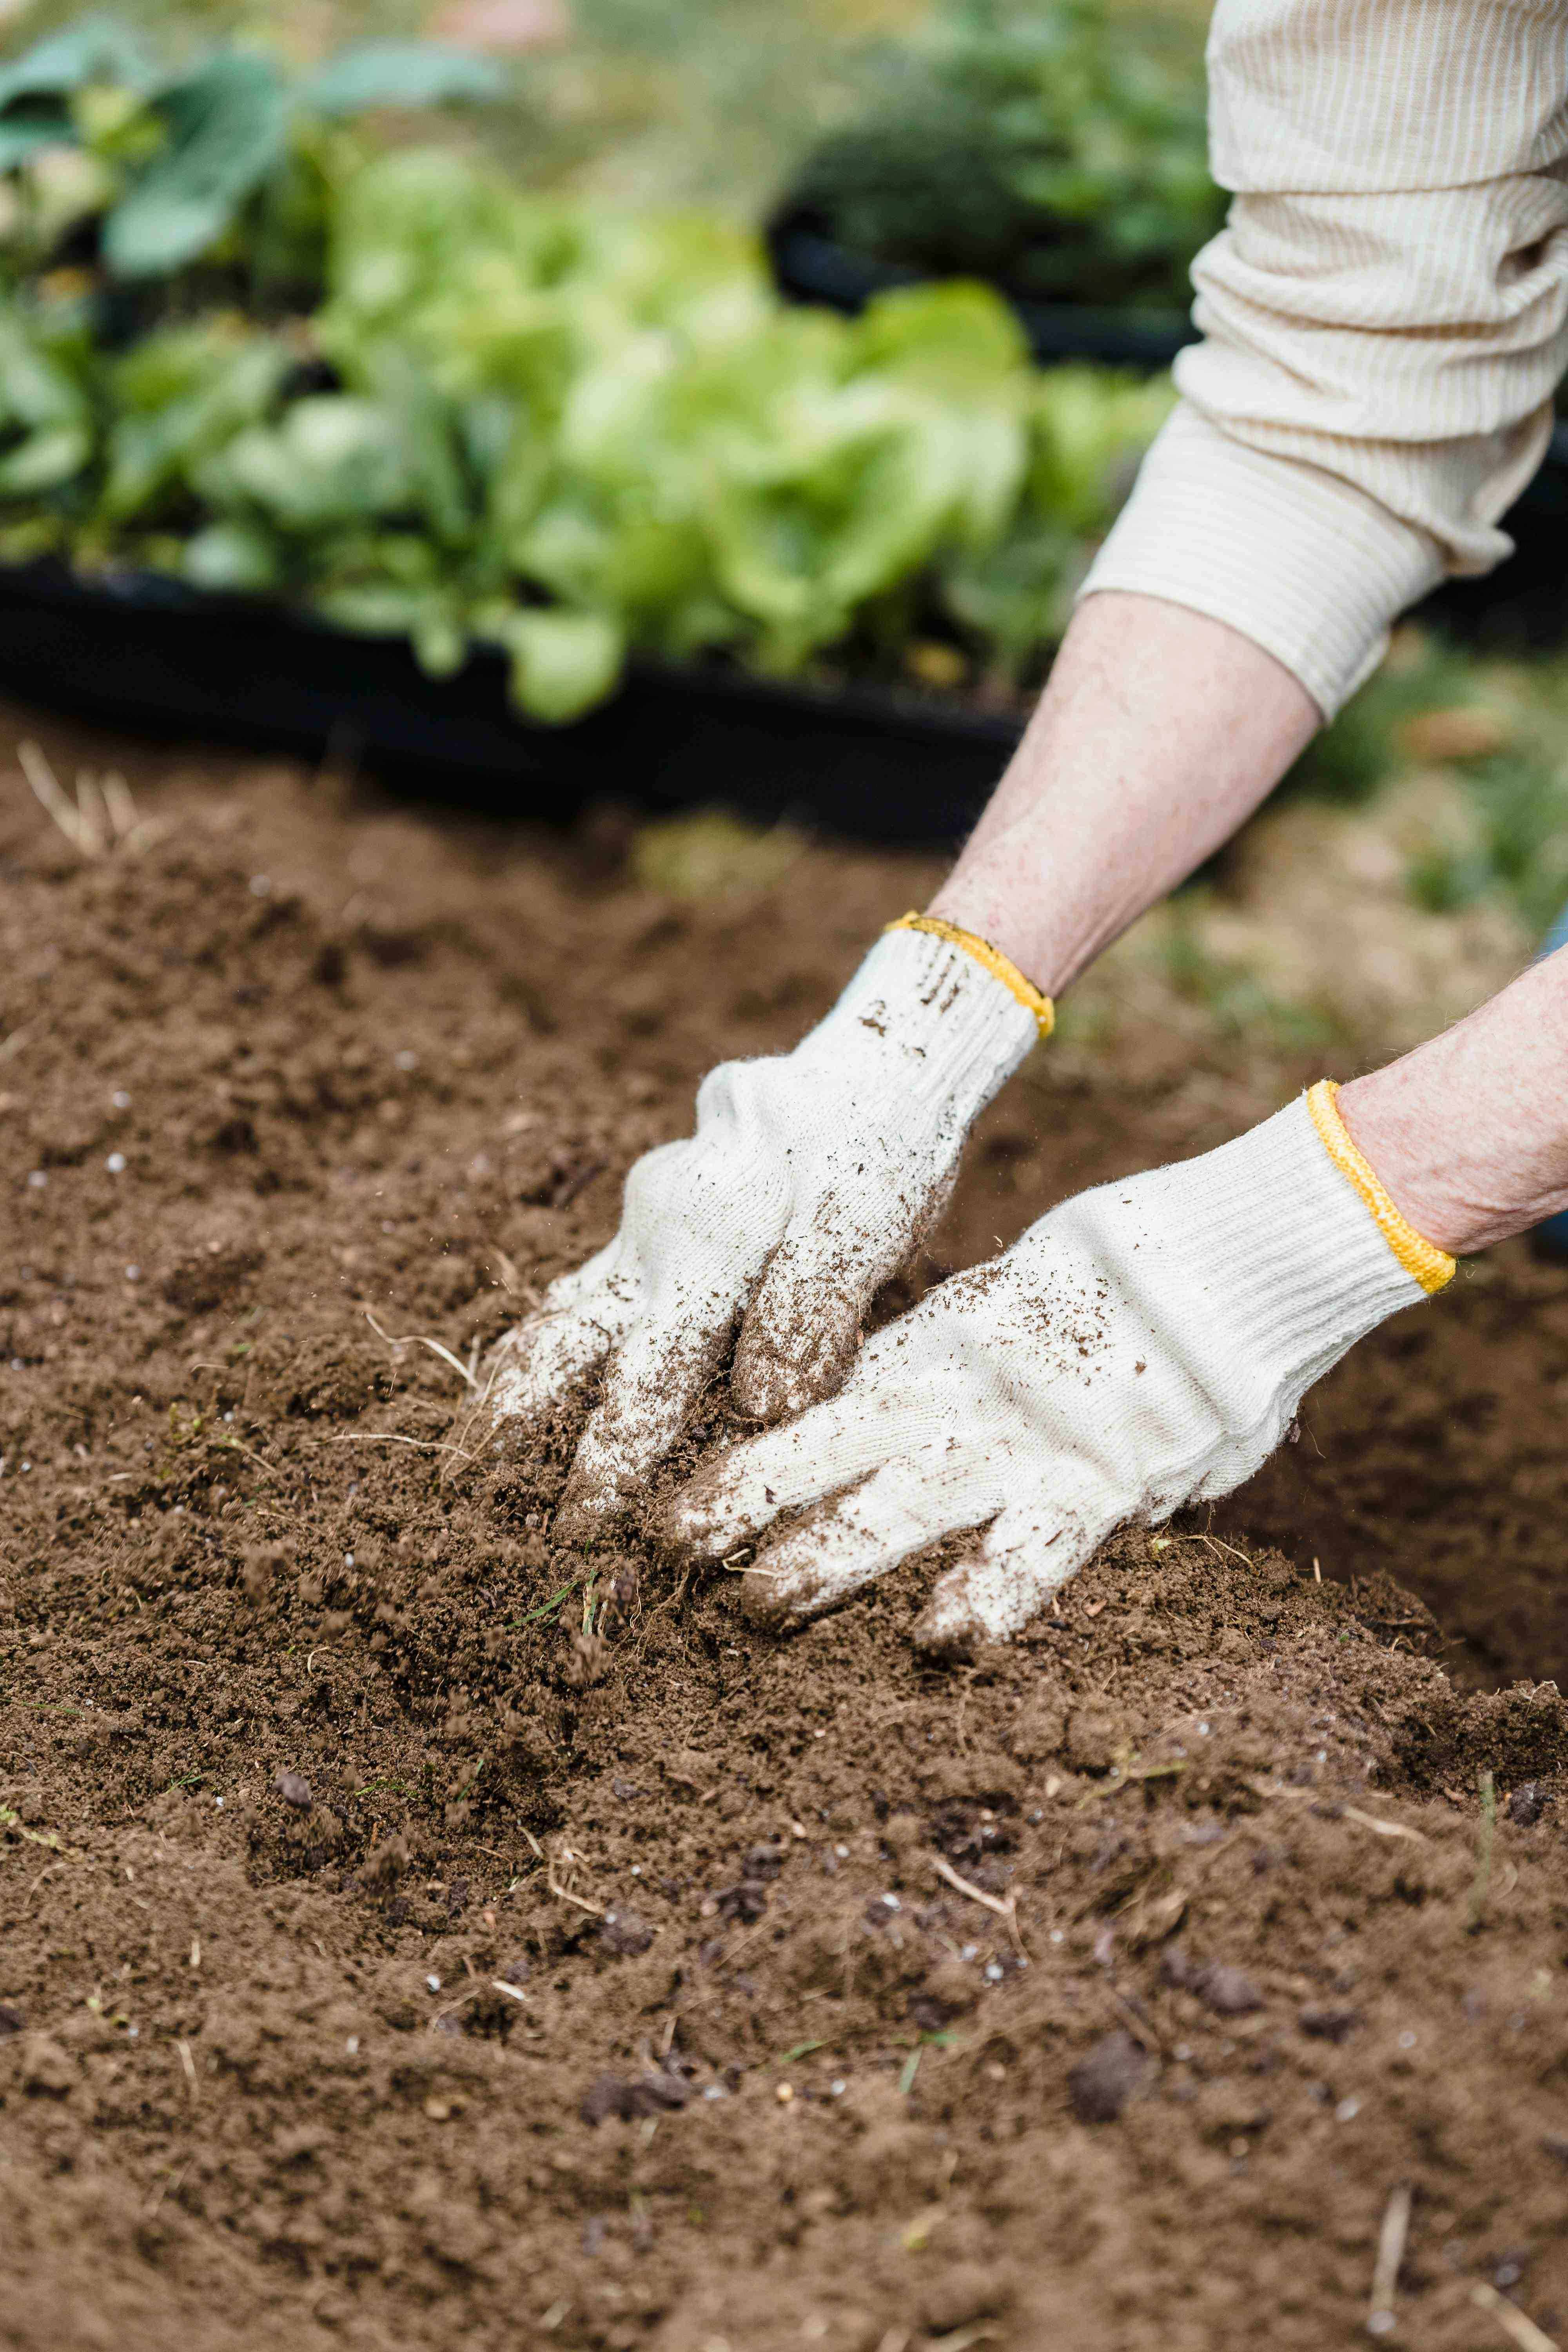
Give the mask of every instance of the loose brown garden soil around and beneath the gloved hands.
[{"label": "loose brown garden soil around and beneath the gloved hands", "polygon": [[[929,873],[134,783],[96,863],[0,788],[0,2345],[1316,2352],[1399,2187],[1396,2343],[1568,2333],[1568,1277],[1497,1251],[976,1668],[922,1564],[762,1639],[555,1548],[559,1461],[470,1491],[409,1334],[468,1362]],[[1161,1002],[936,1261],[1319,1068]]]}]

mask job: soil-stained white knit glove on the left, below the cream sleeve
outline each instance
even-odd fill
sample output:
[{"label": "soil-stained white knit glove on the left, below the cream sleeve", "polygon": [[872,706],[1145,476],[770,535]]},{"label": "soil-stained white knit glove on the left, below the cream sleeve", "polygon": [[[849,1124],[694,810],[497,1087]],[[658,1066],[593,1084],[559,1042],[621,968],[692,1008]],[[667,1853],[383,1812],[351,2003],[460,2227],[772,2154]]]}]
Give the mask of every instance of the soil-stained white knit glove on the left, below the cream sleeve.
[{"label": "soil-stained white knit glove on the left, below the cream sleeve", "polygon": [[616,1240],[491,1359],[482,1446],[503,1451],[604,1367],[559,1536],[639,1494],[736,1329],[743,1414],[773,1421],[839,1385],[971,1124],[1048,1028],[1048,1000],[1006,957],[907,915],[792,1054],[703,1080],[696,1136],[637,1162]]}]

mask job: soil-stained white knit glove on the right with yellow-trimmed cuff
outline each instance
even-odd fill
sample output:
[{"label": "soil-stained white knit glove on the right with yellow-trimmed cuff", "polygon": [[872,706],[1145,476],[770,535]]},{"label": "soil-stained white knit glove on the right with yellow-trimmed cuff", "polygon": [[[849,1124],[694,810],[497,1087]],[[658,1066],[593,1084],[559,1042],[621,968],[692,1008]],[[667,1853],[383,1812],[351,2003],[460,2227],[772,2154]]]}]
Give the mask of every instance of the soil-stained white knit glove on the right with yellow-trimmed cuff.
[{"label": "soil-stained white knit glove on the right with yellow-trimmed cuff", "polygon": [[675,1496],[668,1536],[729,1557],[764,1621],[813,1616],[983,1529],[914,1637],[1018,1632],[1128,1519],[1229,1494],[1347,1348],[1453,1275],[1366,1164],[1328,1080],[1234,1143],[1100,1185],[954,1275],[844,1390]]}]

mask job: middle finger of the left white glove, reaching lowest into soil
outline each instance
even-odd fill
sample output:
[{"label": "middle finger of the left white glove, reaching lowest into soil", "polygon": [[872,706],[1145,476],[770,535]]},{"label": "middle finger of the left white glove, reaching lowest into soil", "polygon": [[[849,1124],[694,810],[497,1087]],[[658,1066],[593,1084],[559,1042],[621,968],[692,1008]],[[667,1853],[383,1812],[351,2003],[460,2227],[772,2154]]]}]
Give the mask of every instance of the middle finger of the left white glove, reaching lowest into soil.
[{"label": "middle finger of the left white glove, reaching lowest into soil", "polygon": [[724,1362],[741,1301],[710,1282],[696,1310],[691,1289],[684,1305],[639,1322],[609,1367],[555,1515],[562,1543],[581,1543],[637,1501]]}]

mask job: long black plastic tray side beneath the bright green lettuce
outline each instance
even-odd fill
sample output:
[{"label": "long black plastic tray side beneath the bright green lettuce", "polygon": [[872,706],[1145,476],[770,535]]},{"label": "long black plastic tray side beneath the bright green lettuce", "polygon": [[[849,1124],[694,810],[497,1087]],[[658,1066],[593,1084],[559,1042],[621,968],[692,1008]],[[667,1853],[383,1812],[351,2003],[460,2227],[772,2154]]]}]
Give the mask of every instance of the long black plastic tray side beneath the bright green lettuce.
[{"label": "long black plastic tray side beneath the bright green lettuce", "polygon": [[350,637],[275,604],[150,574],[0,572],[0,689],[165,741],[355,760],[388,783],[510,816],[597,800],[722,802],[877,842],[952,842],[1020,722],[877,687],[809,687],[722,666],[635,666],[574,727],[508,703],[505,661],[428,677],[400,637]]}]

